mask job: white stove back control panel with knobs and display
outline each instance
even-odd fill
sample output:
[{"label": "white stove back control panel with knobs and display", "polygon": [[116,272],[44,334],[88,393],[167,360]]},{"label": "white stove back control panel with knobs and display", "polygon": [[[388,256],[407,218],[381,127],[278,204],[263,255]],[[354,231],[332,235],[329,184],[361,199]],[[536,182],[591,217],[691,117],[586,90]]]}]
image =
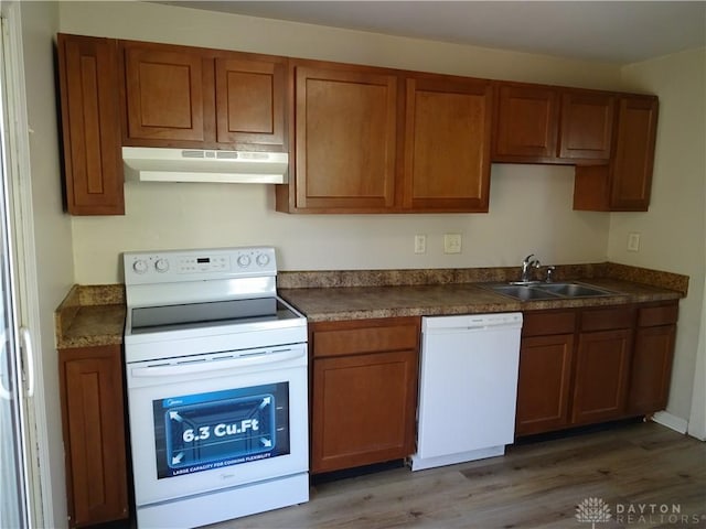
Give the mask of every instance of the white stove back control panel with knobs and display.
[{"label": "white stove back control panel with knobs and display", "polygon": [[127,285],[277,274],[275,248],[263,246],[130,251],[122,259]]}]

